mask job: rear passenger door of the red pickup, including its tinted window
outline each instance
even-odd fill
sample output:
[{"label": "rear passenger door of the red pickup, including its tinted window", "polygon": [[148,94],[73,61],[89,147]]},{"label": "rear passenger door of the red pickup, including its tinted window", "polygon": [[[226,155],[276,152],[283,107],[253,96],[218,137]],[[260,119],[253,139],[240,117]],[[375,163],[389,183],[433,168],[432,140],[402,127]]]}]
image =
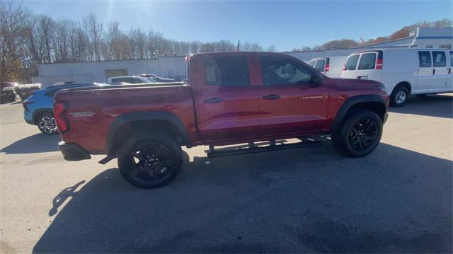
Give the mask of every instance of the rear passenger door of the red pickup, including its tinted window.
[{"label": "rear passenger door of the red pickup, including its tinted window", "polygon": [[248,57],[204,57],[197,69],[197,120],[205,142],[253,136],[259,125],[258,91],[251,86]]}]

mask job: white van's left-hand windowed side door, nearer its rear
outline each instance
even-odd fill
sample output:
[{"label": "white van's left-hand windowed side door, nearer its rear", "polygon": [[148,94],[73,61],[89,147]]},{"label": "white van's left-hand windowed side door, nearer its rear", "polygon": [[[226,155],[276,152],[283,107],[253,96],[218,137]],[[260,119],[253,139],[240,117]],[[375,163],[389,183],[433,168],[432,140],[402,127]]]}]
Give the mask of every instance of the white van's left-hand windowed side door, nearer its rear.
[{"label": "white van's left-hand windowed side door, nearer its rear", "polygon": [[417,93],[428,93],[432,82],[432,61],[429,51],[418,52]]}]

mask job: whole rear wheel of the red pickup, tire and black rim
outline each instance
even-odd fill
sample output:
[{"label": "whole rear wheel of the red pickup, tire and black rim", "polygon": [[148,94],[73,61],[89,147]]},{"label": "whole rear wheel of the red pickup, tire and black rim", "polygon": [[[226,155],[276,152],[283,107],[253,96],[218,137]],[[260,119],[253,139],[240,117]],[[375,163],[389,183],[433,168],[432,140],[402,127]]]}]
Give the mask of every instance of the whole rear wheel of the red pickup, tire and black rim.
[{"label": "whole rear wheel of the red pickup, tire and black rim", "polygon": [[179,144],[166,134],[142,134],[135,137],[118,154],[118,168],[125,180],[146,189],[167,185],[183,165]]}]

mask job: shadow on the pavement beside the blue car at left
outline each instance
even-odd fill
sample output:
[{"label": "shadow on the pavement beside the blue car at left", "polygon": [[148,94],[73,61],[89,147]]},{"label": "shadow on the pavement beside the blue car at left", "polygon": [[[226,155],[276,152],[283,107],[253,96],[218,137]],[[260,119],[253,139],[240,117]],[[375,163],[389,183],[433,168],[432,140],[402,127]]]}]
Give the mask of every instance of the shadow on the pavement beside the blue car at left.
[{"label": "shadow on the pavement beside the blue car at left", "polygon": [[0,150],[5,154],[34,154],[46,151],[57,151],[59,135],[48,136],[42,133],[20,139]]}]

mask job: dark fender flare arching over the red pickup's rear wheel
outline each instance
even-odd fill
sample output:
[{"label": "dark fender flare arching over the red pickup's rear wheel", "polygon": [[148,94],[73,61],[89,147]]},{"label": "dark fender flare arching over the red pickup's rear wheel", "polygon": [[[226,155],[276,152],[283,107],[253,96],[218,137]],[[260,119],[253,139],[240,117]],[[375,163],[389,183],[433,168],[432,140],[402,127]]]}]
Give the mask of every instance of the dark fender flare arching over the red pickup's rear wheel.
[{"label": "dark fender flare arching over the red pickup's rear wheel", "polygon": [[187,146],[188,148],[193,147],[193,142],[189,137],[187,129],[185,129],[183,122],[181,122],[181,120],[176,115],[166,111],[139,111],[119,115],[115,118],[115,120],[113,120],[108,129],[107,139],[105,141],[105,150],[107,151],[107,154],[112,155],[113,153],[113,151],[110,151],[110,146],[113,143],[115,134],[117,130],[120,129],[120,127],[127,124],[128,122],[148,120],[159,120],[171,123],[181,134],[181,138],[183,139],[185,146]]}]

